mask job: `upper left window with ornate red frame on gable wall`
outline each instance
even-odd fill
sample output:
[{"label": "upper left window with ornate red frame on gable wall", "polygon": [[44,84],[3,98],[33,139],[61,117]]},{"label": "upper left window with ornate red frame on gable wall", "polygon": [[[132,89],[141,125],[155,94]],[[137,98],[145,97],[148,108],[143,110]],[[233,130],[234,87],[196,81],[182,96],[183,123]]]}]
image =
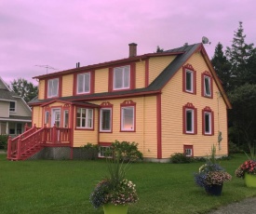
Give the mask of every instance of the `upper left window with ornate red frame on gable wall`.
[{"label": "upper left window with ornate red frame on gable wall", "polygon": [[183,91],[191,94],[195,94],[195,70],[191,64],[186,64],[183,67]]}]

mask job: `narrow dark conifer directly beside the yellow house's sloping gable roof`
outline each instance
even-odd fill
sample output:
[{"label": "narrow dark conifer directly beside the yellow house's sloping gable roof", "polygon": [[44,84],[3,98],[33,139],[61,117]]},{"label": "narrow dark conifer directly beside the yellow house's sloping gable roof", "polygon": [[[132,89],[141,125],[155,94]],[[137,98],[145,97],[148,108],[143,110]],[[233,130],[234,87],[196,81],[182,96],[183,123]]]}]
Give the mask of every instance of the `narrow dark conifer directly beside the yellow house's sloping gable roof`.
[{"label": "narrow dark conifer directly beside the yellow house's sloping gable roof", "polygon": [[222,44],[218,43],[215,47],[215,52],[211,63],[215,72],[218,74],[220,80],[222,81],[222,87],[227,92],[230,90],[230,73],[231,73],[231,63],[225,57],[222,51]]}]

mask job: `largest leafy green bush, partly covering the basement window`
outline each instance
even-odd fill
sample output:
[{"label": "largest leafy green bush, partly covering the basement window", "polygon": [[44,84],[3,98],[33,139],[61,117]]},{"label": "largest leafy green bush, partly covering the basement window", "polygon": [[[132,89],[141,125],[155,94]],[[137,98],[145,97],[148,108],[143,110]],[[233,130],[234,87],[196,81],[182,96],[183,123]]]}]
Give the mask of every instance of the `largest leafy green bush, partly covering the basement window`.
[{"label": "largest leafy green bush, partly covering the basement window", "polygon": [[143,159],[143,154],[138,150],[138,143],[128,141],[115,140],[111,145],[114,156],[119,156],[121,161],[135,162],[138,159]]}]

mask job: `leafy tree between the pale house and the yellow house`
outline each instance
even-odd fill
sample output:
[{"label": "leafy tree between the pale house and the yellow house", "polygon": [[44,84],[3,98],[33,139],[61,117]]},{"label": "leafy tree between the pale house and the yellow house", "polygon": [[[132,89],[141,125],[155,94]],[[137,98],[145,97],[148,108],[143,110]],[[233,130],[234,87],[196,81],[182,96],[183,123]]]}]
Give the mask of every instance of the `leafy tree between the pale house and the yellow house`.
[{"label": "leafy tree between the pale house and the yellow house", "polygon": [[14,79],[10,83],[11,89],[17,93],[26,102],[34,99],[37,96],[38,87],[34,86],[32,83],[28,82],[23,78]]}]

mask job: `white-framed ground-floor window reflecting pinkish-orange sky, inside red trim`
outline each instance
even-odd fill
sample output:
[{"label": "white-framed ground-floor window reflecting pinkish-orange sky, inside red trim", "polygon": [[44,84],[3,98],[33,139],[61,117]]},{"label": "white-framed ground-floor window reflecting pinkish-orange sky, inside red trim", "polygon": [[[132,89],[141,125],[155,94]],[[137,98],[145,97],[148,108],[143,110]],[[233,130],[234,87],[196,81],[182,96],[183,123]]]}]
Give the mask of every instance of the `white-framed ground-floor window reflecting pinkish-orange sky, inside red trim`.
[{"label": "white-framed ground-floor window reflecting pinkish-orange sky, inside red trim", "polygon": [[121,130],[134,131],[134,106],[121,107]]}]

